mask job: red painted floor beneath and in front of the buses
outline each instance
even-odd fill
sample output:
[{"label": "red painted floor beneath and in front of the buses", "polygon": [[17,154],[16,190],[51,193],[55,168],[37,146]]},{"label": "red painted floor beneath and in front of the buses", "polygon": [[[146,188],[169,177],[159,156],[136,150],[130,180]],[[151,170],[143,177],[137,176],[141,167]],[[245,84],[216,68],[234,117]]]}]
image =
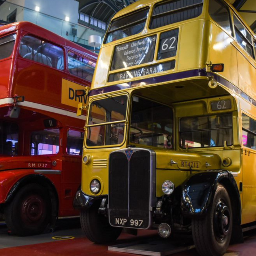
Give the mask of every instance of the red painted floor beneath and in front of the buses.
[{"label": "red painted floor beneath and in front of the buses", "polygon": [[[140,238],[151,238],[155,232],[143,231],[139,233]],[[126,243],[138,239],[133,235],[122,234],[117,243]],[[40,243],[35,245],[19,246],[0,249],[0,256],[129,256],[134,254],[118,253],[107,250],[107,245],[96,245],[87,238],[75,238],[72,240]],[[195,249],[173,256],[197,256]],[[256,256],[256,231],[246,234],[245,243],[231,245],[226,256]]]}]

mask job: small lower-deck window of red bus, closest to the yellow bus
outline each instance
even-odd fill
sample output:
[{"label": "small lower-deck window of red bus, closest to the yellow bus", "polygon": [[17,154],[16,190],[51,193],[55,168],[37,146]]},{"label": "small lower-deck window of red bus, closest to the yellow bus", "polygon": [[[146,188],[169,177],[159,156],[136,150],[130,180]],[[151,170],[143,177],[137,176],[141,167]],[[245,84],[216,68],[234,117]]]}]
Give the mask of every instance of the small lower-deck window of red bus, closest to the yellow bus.
[{"label": "small lower-deck window of red bus, closest to the yellow bus", "polygon": [[85,133],[69,129],[67,131],[67,153],[70,155],[82,155],[83,138]]}]

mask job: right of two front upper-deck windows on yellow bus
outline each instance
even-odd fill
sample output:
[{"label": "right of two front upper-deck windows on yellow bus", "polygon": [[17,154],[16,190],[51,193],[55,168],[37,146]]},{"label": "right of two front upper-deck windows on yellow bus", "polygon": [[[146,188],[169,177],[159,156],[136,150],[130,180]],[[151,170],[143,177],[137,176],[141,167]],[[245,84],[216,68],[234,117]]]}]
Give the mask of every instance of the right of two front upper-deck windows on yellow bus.
[{"label": "right of two front upper-deck windows on yellow bus", "polygon": [[198,17],[202,13],[203,0],[165,1],[154,7],[150,29]]}]

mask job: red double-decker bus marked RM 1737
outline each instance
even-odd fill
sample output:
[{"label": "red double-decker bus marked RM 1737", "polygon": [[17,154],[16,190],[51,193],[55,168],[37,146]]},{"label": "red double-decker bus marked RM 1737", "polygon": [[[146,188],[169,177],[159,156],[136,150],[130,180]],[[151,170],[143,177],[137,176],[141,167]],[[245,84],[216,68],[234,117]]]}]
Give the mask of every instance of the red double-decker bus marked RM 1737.
[{"label": "red double-decker bus marked RM 1737", "polygon": [[0,216],[17,235],[74,216],[84,119],[75,90],[97,56],[29,22],[0,27]]}]

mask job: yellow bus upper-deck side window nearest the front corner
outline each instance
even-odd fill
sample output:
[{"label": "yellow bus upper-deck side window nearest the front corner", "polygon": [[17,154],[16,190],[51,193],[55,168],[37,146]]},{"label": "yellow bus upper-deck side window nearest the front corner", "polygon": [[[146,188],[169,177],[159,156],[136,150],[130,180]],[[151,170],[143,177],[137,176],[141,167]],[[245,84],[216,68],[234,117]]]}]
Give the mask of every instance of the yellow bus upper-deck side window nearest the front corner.
[{"label": "yellow bus upper-deck side window nearest the front corner", "polygon": [[222,1],[209,1],[209,14],[217,24],[223,27],[230,35],[232,34],[230,11]]}]

